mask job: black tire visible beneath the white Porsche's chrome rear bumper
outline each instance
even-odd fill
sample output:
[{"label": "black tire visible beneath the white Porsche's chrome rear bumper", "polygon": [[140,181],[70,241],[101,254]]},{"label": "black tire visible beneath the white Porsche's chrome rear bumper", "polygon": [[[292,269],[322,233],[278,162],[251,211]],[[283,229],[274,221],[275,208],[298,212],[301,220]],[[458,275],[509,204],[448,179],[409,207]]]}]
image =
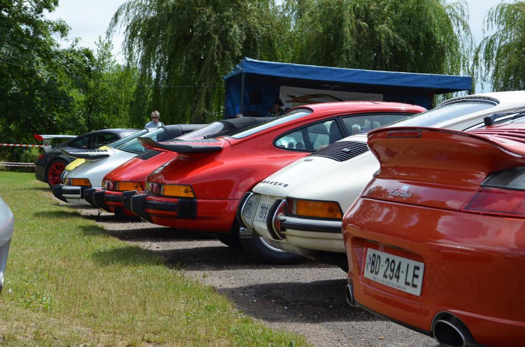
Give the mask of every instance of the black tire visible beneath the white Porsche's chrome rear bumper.
[{"label": "black tire visible beneath the white Porsche's chrome rear bumper", "polygon": [[297,264],[304,257],[288,253],[271,245],[275,241],[264,237],[241,238],[240,243],[246,251],[265,264]]}]

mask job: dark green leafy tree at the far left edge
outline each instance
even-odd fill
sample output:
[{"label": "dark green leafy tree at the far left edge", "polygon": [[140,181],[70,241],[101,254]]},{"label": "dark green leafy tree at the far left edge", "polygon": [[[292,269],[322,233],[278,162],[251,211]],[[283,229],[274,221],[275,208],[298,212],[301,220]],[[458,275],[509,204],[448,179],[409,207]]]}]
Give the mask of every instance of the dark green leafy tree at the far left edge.
[{"label": "dark green leafy tree at the far left edge", "polygon": [[58,50],[52,37],[64,37],[68,27],[43,15],[57,4],[58,0],[0,1],[3,141],[27,140],[33,132],[55,129],[59,114],[72,102],[64,83],[68,71],[63,68],[70,56]]}]

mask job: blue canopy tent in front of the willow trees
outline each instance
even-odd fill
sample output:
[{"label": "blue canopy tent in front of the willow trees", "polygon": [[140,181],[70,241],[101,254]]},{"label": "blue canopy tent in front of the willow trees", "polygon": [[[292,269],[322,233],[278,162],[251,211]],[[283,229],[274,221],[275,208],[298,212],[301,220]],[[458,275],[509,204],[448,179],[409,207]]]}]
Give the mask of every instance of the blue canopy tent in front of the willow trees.
[{"label": "blue canopy tent in front of the willow trees", "polygon": [[[251,58],[241,60],[224,80],[225,118],[237,113],[264,117],[278,98],[286,98],[282,99],[285,107],[330,100],[383,100],[430,108],[435,94],[472,90],[472,78],[465,76],[343,69]],[[304,90],[313,92],[307,97],[295,95]]]}]

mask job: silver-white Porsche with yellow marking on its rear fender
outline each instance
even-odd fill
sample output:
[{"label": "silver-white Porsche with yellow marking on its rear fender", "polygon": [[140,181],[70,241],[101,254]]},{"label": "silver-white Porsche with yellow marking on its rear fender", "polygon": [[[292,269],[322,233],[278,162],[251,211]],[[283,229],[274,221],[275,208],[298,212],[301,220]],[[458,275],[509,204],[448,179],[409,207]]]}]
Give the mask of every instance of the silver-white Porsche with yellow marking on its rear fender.
[{"label": "silver-white Porsche with yellow marking on its rear fender", "polygon": [[71,167],[75,165],[74,161],[66,166],[61,176],[62,184],[51,187],[53,195],[70,204],[91,206],[84,198],[84,192],[90,188],[102,188],[102,178],[108,172],[137,154],[144,152],[144,147],[137,138],[145,137],[152,138],[158,142],[166,141],[205,126],[206,124],[164,125],[156,129],[143,129],[98,150],[64,151],[64,154],[83,159],[85,162],[76,167]]}]

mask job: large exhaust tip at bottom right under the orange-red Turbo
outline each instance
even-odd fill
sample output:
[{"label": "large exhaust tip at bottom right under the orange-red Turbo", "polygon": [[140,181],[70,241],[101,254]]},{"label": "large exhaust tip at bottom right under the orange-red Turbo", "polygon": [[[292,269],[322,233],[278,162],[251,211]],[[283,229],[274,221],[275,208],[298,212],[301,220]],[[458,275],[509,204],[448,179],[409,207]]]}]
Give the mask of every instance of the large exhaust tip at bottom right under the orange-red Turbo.
[{"label": "large exhaust tip at bottom right under the orange-red Turbo", "polygon": [[434,339],[446,347],[478,346],[465,323],[448,312],[440,312],[436,315],[432,323],[432,333]]}]

